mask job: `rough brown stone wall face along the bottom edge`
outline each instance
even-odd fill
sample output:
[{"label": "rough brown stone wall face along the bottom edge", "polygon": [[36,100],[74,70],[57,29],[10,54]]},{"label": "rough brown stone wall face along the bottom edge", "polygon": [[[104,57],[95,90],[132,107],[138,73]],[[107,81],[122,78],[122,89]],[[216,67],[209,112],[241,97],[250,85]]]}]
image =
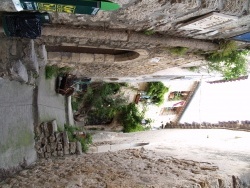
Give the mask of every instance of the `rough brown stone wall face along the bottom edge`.
[{"label": "rough brown stone wall face along the bottom edge", "polygon": [[0,187],[240,187],[209,163],[142,149],[41,160]]}]

